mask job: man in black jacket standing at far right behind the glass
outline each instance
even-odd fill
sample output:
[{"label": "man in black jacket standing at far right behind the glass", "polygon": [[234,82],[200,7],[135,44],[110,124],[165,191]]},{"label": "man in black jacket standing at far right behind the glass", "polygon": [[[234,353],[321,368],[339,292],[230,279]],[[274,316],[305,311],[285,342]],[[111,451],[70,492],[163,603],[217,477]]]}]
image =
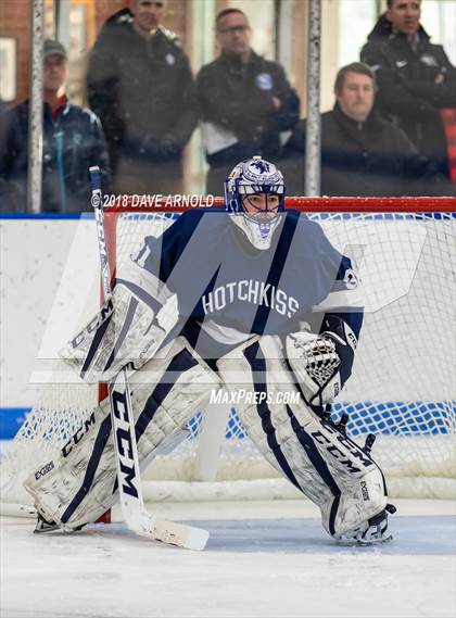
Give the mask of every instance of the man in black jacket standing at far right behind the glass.
[{"label": "man in black jacket standing at far right behind the glass", "polygon": [[420,0],[388,0],[360,58],[376,72],[380,112],[456,182],[456,144],[448,153],[445,136],[445,126],[455,135],[456,114],[443,112],[456,108],[456,68],[443,47],[430,42],[420,12]]}]

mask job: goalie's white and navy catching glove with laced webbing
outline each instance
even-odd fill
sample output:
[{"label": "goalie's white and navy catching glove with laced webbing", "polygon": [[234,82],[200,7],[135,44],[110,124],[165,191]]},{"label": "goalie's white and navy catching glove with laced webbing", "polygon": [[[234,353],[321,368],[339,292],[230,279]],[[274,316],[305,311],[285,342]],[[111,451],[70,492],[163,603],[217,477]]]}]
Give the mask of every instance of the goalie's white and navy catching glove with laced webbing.
[{"label": "goalie's white and navy catching glove with laced webbing", "polygon": [[325,319],[332,330],[320,335],[299,331],[287,336],[287,356],[304,400],[314,406],[331,404],[349,379],[356,337],[335,315]]}]

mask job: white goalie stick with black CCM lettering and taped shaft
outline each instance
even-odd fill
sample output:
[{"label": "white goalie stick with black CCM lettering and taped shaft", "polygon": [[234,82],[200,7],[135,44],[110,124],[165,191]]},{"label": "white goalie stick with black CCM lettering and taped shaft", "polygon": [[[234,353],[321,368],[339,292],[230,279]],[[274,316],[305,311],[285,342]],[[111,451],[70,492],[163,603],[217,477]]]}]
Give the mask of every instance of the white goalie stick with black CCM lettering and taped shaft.
[{"label": "white goalie stick with black CCM lettering and taped shaft", "polygon": [[[112,294],[111,269],[104,234],[104,212],[101,193],[100,168],[89,168],[91,204],[97,223],[97,237],[103,277],[104,300]],[[183,524],[159,519],[144,507],[141,476],[138,458],[138,444],[135,436],[135,419],[127,368],[124,367],[109,384],[111,419],[115,446],[118,493],[122,514],[127,527],[141,537],[162,541],[188,550],[203,550],[208,532]]]}]

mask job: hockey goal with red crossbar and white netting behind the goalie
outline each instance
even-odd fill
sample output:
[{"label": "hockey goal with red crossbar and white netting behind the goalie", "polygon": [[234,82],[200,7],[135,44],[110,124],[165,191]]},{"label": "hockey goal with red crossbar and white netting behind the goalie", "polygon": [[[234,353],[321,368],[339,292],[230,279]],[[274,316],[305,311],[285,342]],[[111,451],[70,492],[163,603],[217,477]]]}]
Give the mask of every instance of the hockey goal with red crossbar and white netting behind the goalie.
[{"label": "hockey goal with red crossbar and white netting behind the goalie", "polygon": [[[181,202],[143,202],[106,211],[116,268],[144,236],[160,236],[186,210]],[[347,432],[362,444],[369,432],[377,436],[372,455],[392,496],[455,496],[455,205],[429,198],[287,200],[321,225],[363,279],[362,337],[332,414],[349,414]],[[97,398],[80,384],[46,391],[0,467],[2,502],[26,502],[17,489],[24,476],[59,451]],[[258,454],[235,407],[207,406],[188,428],[189,438],[144,472],[147,500],[297,497]]]}]

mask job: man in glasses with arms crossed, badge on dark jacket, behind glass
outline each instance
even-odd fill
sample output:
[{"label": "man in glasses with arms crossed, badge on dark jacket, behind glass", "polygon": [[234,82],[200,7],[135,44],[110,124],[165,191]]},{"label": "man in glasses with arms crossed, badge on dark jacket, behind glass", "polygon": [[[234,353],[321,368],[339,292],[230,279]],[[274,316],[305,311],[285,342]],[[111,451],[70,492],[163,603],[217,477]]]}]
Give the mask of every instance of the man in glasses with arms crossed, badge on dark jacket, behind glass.
[{"label": "man in glasses with arms crossed, badge on dark jacket, behind glass", "polygon": [[220,55],[198,75],[198,98],[210,171],[207,192],[219,193],[231,168],[255,154],[273,161],[281,134],[294,127],[300,100],[282,66],[250,47],[244,13],[226,9],[216,18]]}]

